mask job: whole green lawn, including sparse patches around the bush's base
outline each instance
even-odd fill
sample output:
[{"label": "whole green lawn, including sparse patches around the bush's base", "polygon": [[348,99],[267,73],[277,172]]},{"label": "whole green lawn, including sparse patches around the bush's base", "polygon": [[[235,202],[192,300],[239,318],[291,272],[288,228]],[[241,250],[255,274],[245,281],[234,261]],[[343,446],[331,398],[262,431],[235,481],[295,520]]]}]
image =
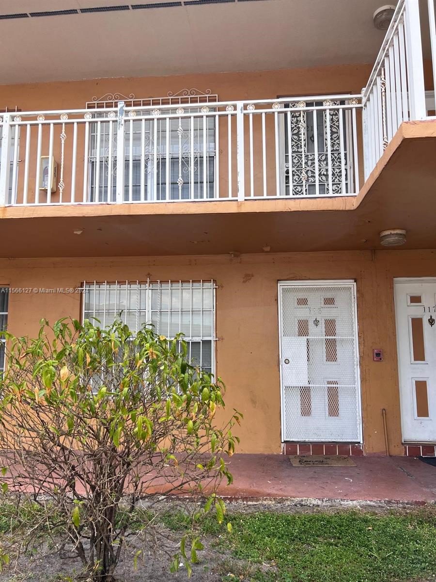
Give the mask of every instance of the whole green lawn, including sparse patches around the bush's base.
[{"label": "whole green lawn, including sparse patches around the bush's base", "polygon": [[[168,504],[167,504],[168,505]],[[293,513],[253,512],[233,505],[219,525],[214,516],[200,524],[205,549],[199,552],[200,562],[192,569],[194,582],[253,580],[258,582],[428,582],[436,580],[436,508],[369,513],[363,511],[320,512],[310,509]],[[233,512],[233,513],[232,513]],[[144,527],[145,510],[135,512],[133,532]],[[149,516],[149,512],[148,516]],[[23,521],[18,530],[23,527]],[[31,516],[30,516],[31,517]],[[188,519],[183,513],[159,513],[165,531],[183,535]],[[227,522],[231,522],[231,531]],[[15,528],[2,520],[0,542]],[[15,531],[15,535],[19,533]],[[178,538],[179,539],[179,538]],[[44,562],[44,565],[47,562]],[[22,582],[76,580],[76,572],[60,575],[61,562],[52,562],[33,576],[8,577]],[[28,566],[26,564],[25,566]],[[70,566],[69,566],[70,567]],[[177,576],[170,574],[167,556],[151,558],[148,570],[135,569],[133,558],[126,556],[120,582],[187,580],[184,569]]]}]

